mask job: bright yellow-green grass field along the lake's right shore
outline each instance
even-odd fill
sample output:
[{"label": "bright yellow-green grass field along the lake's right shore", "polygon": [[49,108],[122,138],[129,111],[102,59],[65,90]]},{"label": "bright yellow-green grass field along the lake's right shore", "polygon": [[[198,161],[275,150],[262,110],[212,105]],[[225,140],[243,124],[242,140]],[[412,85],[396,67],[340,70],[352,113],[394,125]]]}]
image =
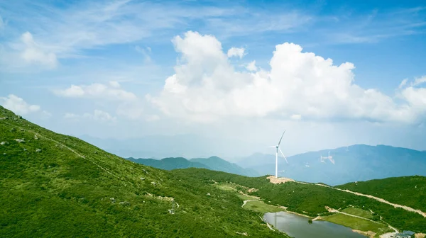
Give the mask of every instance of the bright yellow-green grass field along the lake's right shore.
[{"label": "bright yellow-green grass field along the lake's right shore", "polygon": [[375,233],[386,233],[392,231],[386,225],[371,222],[358,217],[351,217],[341,213],[334,213],[333,215],[322,217],[322,220],[344,225],[345,227],[351,227],[352,229],[359,229],[365,232],[371,231]]}]

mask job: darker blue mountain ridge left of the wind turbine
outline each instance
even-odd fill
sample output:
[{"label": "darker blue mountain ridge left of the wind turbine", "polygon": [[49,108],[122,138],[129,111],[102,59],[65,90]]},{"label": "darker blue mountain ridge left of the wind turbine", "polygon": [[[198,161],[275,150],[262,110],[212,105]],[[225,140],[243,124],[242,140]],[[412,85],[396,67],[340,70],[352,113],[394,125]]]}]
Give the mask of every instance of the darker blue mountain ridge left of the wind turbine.
[{"label": "darker blue mountain ridge left of the wind turbine", "polygon": [[187,168],[203,168],[215,171],[224,171],[231,174],[239,174],[244,176],[261,176],[253,169],[244,169],[241,166],[227,162],[219,157],[209,158],[196,158],[185,159],[182,157],[177,158],[164,158],[164,159],[134,159],[127,158],[132,162],[152,166],[158,169],[172,170],[172,169],[187,169]]}]

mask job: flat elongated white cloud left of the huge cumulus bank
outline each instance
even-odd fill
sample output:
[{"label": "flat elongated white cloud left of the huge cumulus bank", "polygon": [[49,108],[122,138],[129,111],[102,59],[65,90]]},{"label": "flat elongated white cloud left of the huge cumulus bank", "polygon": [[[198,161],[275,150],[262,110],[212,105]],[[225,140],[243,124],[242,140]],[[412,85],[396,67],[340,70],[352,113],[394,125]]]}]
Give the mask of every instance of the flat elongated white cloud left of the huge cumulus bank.
[{"label": "flat elongated white cloud left of the huge cumulus bank", "polygon": [[71,85],[67,89],[55,90],[58,96],[68,98],[102,98],[111,101],[134,101],[137,96],[121,89],[120,84],[111,81],[109,84]]}]

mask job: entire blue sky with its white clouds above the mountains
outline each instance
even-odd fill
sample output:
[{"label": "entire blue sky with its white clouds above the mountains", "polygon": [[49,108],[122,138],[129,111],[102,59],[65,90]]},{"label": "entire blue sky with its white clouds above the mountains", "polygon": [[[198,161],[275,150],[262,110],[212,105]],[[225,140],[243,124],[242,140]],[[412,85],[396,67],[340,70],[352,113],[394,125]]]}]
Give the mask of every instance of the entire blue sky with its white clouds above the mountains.
[{"label": "entire blue sky with its white clouds above the mountains", "polygon": [[0,103],[72,135],[426,149],[425,33],[424,1],[1,1]]}]

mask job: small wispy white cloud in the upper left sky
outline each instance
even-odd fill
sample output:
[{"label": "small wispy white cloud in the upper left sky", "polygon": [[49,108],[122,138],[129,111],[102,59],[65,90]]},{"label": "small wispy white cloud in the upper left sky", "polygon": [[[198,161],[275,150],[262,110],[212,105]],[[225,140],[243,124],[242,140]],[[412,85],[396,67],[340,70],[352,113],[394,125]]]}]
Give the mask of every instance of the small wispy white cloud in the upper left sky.
[{"label": "small wispy white cloud in the upper left sky", "polygon": [[25,45],[21,57],[27,63],[31,64],[42,64],[48,68],[55,68],[58,64],[56,55],[52,52],[43,51],[42,47],[37,45],[33,39],[31,33],[26,32],[21,36],[21,40]]}]

